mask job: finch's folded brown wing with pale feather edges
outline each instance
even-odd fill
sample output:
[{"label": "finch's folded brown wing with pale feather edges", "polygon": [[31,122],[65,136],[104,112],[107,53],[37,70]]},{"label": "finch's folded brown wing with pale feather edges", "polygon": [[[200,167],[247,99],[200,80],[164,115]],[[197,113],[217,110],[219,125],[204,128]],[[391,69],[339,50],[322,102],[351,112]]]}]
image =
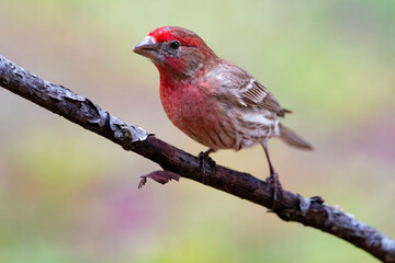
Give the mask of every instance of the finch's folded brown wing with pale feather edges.
[{"label": "finch's folded brown wing with pale feather edges", "polygon": [[229,67],[222,76],[223,88],[235,95],[239,104],[248,107],[261,107],[284,116],[291,111],[282,108],[270,91],[259,83],[252,76],[239,67]]}]

